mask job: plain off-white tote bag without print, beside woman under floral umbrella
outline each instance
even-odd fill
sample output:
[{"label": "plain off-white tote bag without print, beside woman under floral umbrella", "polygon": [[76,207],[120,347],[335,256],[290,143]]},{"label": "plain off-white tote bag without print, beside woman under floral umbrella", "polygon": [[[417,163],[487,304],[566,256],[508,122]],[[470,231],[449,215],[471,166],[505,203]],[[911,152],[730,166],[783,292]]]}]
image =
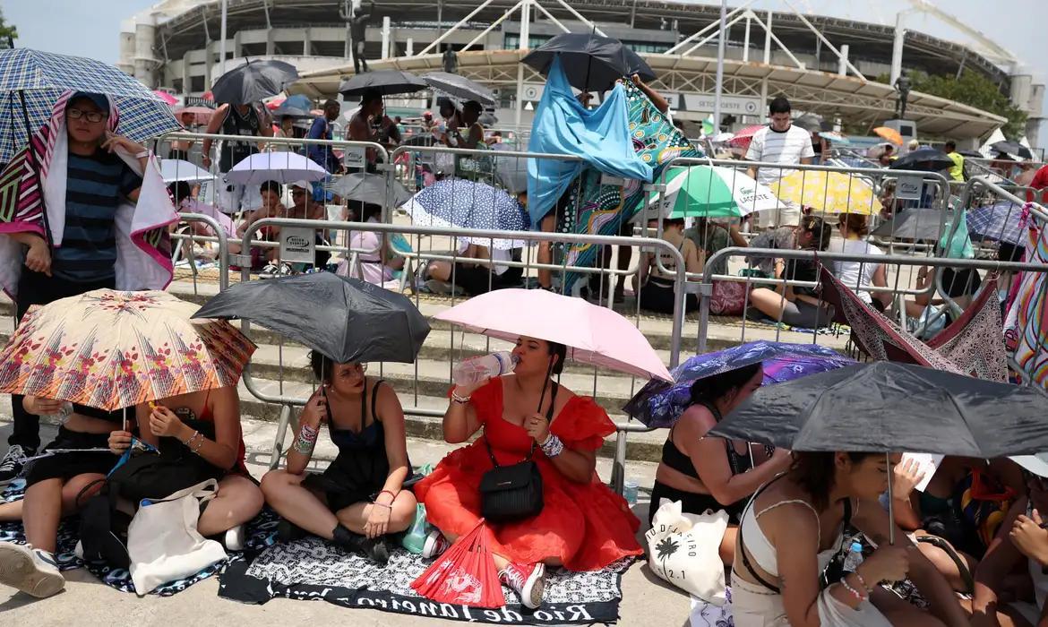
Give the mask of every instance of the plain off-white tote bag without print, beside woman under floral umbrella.
[{"label": "plain off-white tote bag without print, beside woman under floral umbrella", "polygon": [[225,559],[225,549],[197,532],[200,503],[215,498],[218,481],[208,479],[168,498],[138,507],[128,526],[128,554],[135,591],[196,575]]}]

